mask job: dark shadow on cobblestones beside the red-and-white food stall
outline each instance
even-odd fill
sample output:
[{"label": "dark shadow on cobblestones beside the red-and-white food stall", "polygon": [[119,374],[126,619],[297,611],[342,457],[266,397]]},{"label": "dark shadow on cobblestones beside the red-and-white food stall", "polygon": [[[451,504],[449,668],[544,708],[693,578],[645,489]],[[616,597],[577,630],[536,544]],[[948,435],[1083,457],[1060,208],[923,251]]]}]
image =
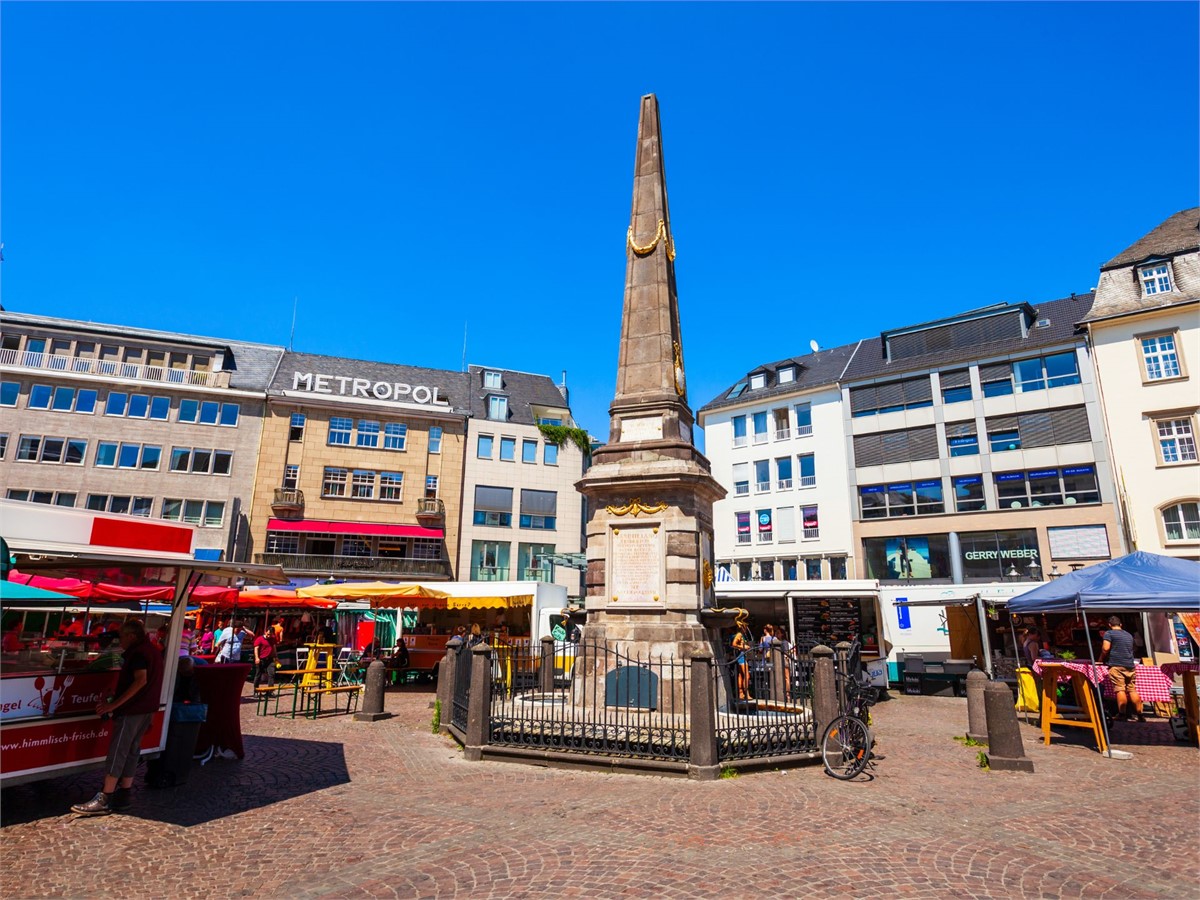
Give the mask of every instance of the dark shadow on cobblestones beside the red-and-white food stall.
[{"label": "dark shadow on cobblestones beside the red-and-white food stall", "polygon": [[[245,737],[245,760],[192,764],[186,784],[145,786],[138,767],[133,805],[124,814],[190,828],[350,781],[342,744],[295,738]],[[5,788],[0,826],[61,816],[100,790],[100,769]]]}]

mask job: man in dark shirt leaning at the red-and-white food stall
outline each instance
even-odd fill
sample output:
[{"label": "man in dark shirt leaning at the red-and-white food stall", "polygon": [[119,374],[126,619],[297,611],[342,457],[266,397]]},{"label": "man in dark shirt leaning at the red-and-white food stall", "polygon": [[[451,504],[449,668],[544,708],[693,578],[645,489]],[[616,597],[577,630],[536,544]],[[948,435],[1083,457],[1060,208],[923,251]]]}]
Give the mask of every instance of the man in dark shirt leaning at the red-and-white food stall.
[{"label": "man in dark shirt leaning at the red-and-white food stall", "polygon": [[121,625],[121,648],[125,653],[116,677],[116,694],[96,706],[101,716],[113,716],[113,736],[104,760],[104,787],[86,803],[71,808],[80,816],[107,816],[130,805],[142,736],[158,712],[162,653],[150,643],[140,620],[127,619]]}]

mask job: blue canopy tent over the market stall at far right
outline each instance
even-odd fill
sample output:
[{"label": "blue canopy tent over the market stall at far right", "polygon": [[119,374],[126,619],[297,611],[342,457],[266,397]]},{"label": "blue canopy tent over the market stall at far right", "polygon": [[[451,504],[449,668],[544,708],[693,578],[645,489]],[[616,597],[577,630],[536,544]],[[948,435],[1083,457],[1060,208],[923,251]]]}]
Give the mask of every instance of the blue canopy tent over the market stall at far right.
[{"label": "blue canopy tent over the market stall at far right", "polygon": [[[1189,559],[1135,551],[1120,559],[1098,563],[1070,575],[1046,582],[1008,601],[1014,614],[1031,612],[1176,612],[1200,610],[1200,563]],[[1091,631],[1087,654],[1096,668],[1096,649]],[[1108,721],[1100,716],[1106,756],[1128,758],[1132,754],[1114,750],[1109,740]]]}]

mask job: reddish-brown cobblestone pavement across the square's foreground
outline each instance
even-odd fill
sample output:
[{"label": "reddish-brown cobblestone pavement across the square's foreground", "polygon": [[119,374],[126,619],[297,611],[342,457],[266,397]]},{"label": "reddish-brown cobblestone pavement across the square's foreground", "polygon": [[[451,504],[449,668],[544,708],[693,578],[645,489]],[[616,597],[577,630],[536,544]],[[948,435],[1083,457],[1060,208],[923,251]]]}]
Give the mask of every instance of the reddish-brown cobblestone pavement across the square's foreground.
[{"label": "reddish-brown cobblestone pavement across the square's foreground", "polygon": [[[820,764],[713,782],[468,763],[430,733],[432,694],[396,718],[259,719],[244,761],[76,818],[77,775],[2,793],[2,894],[17,896],[1200,895],[1200,754],[1163,720],[1118,724],[1132,761],[1076,734],[1033,775],[984,772],[965,701],[875,709],[874,780]],[[1075,731],[1079,736],[1081,731]]]}]

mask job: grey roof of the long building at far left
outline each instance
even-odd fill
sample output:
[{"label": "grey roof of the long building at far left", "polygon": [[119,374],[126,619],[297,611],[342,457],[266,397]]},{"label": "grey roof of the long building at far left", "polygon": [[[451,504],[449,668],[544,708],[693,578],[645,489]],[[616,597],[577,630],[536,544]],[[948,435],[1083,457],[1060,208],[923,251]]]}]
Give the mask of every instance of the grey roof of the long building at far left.
[{"label": "grey roof of the long building at far left", "polygon": [[178,331],[156,331],[130,325],[109,325],[102,322],[84,322],[64,319],[54,316],[35,316],[31,313],[0,311],[0,326],[19,325],[28,329],[64,331],[74,335],[95,335],[97,340],[110,338],[114,343],[144,341],[166,347],[197,347],[200,349],[226,354],[226,368],[230,372],[229,386],[246,391],[265,391],[275,374],[275,368],[283,355],[283,348],[275,344],[230,341],[224,337],[205,337],[185,335]]}]

